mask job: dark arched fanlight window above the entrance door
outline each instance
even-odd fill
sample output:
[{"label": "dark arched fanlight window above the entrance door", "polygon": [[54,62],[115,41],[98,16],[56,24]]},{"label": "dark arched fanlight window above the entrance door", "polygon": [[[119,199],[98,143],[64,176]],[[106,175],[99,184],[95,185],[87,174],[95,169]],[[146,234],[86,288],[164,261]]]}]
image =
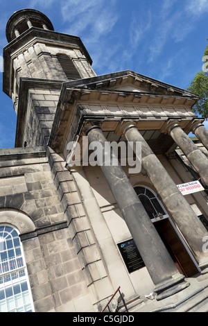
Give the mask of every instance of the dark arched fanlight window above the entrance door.
[{"label": "dark arched fanlight window above the entrance door", "polygon": [[142,205],[146,209],[148,216],[153,220],[158,216],[167,216],[164,207],[160,203],[157,195],[148,187],[135,187],[135,191]]}]

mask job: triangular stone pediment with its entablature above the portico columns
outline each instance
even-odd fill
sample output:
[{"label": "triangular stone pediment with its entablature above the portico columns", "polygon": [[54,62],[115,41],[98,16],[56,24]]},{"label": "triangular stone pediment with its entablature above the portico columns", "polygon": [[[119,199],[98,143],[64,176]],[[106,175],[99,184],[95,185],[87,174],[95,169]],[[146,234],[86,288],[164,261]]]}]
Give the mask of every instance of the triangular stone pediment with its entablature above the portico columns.
[{"label": "triangular stone pediment with its entablature above the portico columns", "polygon": [[132,71],[64,82],[49,144],[62,151],[67,132],[77,119],[75,128],[81,128],[84,120],[102,121],[104,131],[115,131],[123,119],[141,123],[139,130],[160,130],[167,119],[184,117],[189,123],[196,100],[196,94]]}]

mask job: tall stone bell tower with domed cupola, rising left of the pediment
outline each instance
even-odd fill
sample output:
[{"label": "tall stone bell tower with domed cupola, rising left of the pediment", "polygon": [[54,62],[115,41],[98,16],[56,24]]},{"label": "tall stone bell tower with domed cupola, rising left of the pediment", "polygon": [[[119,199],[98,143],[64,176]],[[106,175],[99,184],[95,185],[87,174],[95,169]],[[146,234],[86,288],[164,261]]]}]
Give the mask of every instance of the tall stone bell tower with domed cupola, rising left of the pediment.
[{"label": "tall stone bell tower with domed cupola, rising left of the pediment", "polygon": [[62,83],[96,76],[80,37],[54,31],[34,9],[14,12],[6,26],[3,92],[17,113],[15,146],[47,144]]}]

